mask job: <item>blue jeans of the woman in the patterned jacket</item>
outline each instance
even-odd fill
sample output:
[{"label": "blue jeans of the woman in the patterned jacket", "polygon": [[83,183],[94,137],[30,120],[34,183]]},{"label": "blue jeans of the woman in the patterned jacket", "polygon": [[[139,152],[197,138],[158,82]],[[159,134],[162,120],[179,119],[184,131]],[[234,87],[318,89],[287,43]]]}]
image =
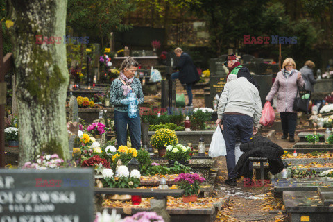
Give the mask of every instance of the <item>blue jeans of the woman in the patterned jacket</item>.
[{"label": "blue jeans of the woman in the patterned jacket", "polygon": [[141,148],[141,121],[139,111],[137,117],[128,117],[128,112],[114,110],[114,128],[116,128],[118,146],[127,145],[127,126],[130,130],[130,141],[132,147],[139,150]]}]

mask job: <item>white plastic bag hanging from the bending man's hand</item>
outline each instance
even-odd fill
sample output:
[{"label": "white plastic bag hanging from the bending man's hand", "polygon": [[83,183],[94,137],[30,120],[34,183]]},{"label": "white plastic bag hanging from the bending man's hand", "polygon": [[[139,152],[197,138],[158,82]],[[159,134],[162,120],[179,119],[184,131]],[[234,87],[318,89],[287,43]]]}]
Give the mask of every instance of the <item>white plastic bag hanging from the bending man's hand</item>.
[{"label": "white plastic bag hanging from the bending man's hand", "polygon": [[219,157],[221,155],[227,155],[225,149],[225,141],[222,135],[221,127],[217,126],[210,142],[210,150],[208,151],[210,157]]}]

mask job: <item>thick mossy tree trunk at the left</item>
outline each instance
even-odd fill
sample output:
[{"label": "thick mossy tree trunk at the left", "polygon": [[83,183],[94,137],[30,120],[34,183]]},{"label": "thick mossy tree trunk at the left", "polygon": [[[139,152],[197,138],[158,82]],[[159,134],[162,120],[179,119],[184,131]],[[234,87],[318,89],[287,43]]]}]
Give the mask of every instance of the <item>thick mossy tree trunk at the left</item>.
[{"label": "thick mossy tree trunk at the left", "polygon": [[[65,35],[67,0],[11,0],[9,28],[17,70],[19,167],[42,152],[69,159],[65,101],[69,74]],[[37,44],[36,36],[61,37]]]}]

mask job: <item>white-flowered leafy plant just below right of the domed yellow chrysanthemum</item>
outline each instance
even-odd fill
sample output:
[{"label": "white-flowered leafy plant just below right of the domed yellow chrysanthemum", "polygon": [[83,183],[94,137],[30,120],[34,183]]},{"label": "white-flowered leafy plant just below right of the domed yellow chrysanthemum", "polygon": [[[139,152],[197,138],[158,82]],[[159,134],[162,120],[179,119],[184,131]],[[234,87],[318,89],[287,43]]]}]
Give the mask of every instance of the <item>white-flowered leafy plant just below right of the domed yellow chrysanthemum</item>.
[{"label": "white-flowered leafy plant just below right of the domed yellow chrysanthemum", "polygon": [[167,153],[165,157],[168,160],[187,162],[191,159],[191,153],[191,147],[189,146],[183,146],[182,144],[177,144],[176,146],[169,145],[167,146]]}]

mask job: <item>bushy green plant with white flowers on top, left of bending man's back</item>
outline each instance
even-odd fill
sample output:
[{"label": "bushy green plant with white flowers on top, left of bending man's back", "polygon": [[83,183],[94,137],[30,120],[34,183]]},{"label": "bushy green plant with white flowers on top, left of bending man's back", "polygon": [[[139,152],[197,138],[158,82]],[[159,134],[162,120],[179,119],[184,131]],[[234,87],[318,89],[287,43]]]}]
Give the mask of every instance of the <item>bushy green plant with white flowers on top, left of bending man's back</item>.
[{"label": "bushy green plant with white flowers on top, left of bending man's back", "polygon": [[212,119],[213,112],[214,110],[211,108],[195,108],[193,114],[189,117],[191,128],[194,130],[205,130],[205,121]]}]

